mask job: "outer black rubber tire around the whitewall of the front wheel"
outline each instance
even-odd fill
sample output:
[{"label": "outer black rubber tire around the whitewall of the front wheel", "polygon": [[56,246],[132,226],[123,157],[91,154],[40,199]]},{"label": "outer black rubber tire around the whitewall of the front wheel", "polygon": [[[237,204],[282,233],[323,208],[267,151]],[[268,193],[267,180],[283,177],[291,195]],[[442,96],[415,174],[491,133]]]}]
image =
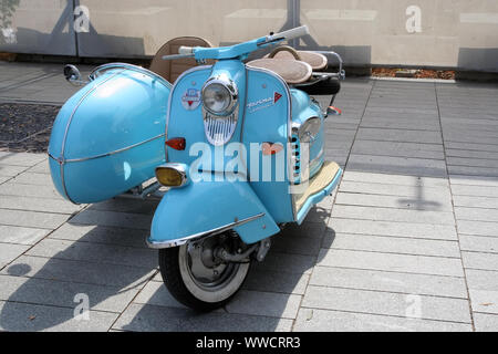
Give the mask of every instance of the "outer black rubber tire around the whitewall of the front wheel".
[{"label": "outer black rubber tire around the whitewall of the front wheel", "polygon": [[179,261],[180,247],[165,248],[159,250],[159,270],[163,277],[163,282],[168,289],[169,293],[181,304],[198,311],[208,312],[224,306],[228,303],[240,290],[247,273],[243,277],[240,287],[227,299],[217,302],[206,302],[196,298],[185,285],[180,271]]}]

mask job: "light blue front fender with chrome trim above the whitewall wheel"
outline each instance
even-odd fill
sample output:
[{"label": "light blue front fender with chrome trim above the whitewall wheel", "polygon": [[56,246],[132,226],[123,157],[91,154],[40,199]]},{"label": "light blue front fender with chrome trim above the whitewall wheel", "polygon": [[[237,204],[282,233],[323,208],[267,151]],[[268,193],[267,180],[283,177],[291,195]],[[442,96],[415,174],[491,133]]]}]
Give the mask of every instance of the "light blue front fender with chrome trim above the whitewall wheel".
[{"label": "light blue front fender with chrome trim above the whitewall wheel", "polygon": [[246,181],[198,181],[165,194],[154,215],[152,248],[168,248],[234,229],[245,243],[280,231]]}]

